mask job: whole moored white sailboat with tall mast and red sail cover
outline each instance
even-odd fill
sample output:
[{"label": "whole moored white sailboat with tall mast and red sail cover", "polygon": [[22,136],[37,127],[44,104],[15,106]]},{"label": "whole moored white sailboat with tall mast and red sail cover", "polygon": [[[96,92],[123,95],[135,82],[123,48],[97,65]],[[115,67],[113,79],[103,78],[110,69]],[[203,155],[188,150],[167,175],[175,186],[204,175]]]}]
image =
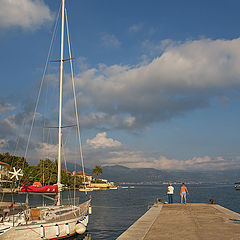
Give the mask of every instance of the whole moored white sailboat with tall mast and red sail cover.
[{"label": "whole moored white sailboat with tall mast and red sail cover", "polygon": [[[60,60],[60,101],[59,101],[59,126],[58,126],[58,180],[56,185],[38,188],[38,193],[51,192],[56,194],[56,203],[50,206],[39,206],[17,213],[9,214],[13,204],[6,207],[3,216],[0,217],[0,239],[1,240],[39,240],[39,239],[62,239],[74,234],[83,234],[86,231],[89,213],[91,211],[91,199],[82,204],[66,205],[62,202],[61,184],[61,146],[62,146],[62,86],[63,86],[63,43],[65,23],[65,0],[62,0],[62,28],[61,28],[61,60]],[[77,120],[78,123],[78,120]],[[79,127],[79,124],[78,124]],[[19,171],[14,171],[18,178]],[[40,192],[39,192],[40,191]],[[34,192],[32,187],[25,186],[26,196]],[[28,203],[26,198],[26,203]],[[26,204],[27,205],[27,204]]]}]

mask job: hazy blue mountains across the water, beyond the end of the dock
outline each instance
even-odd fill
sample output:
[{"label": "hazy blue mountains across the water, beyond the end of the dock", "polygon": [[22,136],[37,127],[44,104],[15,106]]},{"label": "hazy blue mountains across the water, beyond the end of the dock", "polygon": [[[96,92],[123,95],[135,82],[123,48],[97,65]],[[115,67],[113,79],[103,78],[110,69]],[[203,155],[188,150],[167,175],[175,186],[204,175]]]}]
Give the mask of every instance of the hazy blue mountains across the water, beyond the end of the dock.
[{"label": "hazy blue mountains across the water, beyond the end of the dock", "polygon": [[203,182],[234,183],[240,181],[240,170],[228,171],[164,171],[154,168],[127,168],[119,165],[103,167],[102,178],[114,182]]}]

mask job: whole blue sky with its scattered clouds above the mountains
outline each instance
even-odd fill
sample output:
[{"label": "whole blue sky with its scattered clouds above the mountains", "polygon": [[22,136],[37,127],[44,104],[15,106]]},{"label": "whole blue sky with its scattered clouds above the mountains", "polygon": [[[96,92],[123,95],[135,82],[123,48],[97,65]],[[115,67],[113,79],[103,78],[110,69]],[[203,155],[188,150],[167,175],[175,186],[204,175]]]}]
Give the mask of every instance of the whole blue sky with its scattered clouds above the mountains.
[{"label": "whole blue sky with its scattered clouds above the mountains", "polygon": [[[24,156],[60,1],[0,5],[0,152]],[[238,0],[67,0],[66,8],[87,167],[240,168]],[[49,60],[59,59],[59,36]],[[50,63],[45,74],[49,96],[37,109],[31,164],[57,156],[56,130],[40,126],[57,123],[58,68]],[[74,122],[67,66],[64,76],[67,125]],[[73,138],[64,138],[70,161],[78,155]]]}]

